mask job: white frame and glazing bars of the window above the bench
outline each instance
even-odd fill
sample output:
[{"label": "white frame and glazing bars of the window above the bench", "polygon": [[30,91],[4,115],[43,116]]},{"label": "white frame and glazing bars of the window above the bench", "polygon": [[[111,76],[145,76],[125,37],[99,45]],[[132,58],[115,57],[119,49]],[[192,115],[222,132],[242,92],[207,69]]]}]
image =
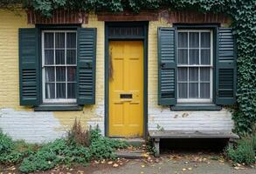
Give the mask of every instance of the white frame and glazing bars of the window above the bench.
[{"label": "white frame and glazing bars of the window above the bench", "polygon": [[[188,47],[187,48],[178,48],[178,45],[177,46],[177,50],[178,49],[188,49],[188,64],[178,64],[178,60],[176,61],[176,65],[177,65],[177,69],[178,68],[181,68],[181,67],[185,67],[185,68],[190,68],[190,67],[198,67],[198,68],[201,68],[201,67],[209,67],[210,68],[210,98],[189,98],[189,88],[187,89],[188,90],[188,98],[178,98],[178,92],[179,92],[179,89],[178,89],[178,84],[176,85],[177,86],[177,90],[176,90],[176,95],[177,95],[177,103],[178,104],[209,104],[209,103],[212,103],[212,90],[213,90],[213,31],[212,30],[177,30],[177,32],[186,32],[188,33]],[[199,32],[199,65],[193,65],[193,64],[190,64],[189,61],[190,61],[190,54],[189,54],[189,50],[190,50],[190,35],[189,33],[190,32]],[[210,65],[204,65],[202,64],[201,65],[201,32],[210,32],[211,33],[211,64]],[[178,55],[178,51],[177,51],[177,55]],[[178,56],[177,56],[178,57]],[[200,69],[199,69],[200,70]],[[178,83],[178,73],[176,75],[176,79],[177,79],[177,83]],[[189,70],[188,70],[188,77],[187,77],[187,83],[189,85]],[[200,73],[198,73],[198,95],[200,95]]]}]

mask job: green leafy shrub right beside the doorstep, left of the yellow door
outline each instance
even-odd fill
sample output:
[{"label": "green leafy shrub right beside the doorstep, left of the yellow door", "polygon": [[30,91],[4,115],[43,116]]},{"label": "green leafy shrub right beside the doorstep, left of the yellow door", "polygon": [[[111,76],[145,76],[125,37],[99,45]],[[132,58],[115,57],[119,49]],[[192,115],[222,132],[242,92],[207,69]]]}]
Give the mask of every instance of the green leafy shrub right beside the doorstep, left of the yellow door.
[{"label": "green leafy shrub right beside the doorstep, left of the yellow door", "polygon": [[101,136],[99,129],[90,131],[90,137],[90,151],[93,158],[96,159],[114,159],[116,158],[114,155],[116,149],[128,147],[128,144],[123,141]]}]

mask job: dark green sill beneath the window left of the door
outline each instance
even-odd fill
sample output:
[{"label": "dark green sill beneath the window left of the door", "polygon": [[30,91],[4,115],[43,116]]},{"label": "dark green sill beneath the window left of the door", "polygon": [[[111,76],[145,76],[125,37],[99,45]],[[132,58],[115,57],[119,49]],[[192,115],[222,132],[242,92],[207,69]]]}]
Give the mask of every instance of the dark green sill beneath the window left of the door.
[{"label": "dark green sill beneath the window left of the door", "polygon": [[78,104],[41,104],[34,108],[35,111],[75,111],[83,110]]}]

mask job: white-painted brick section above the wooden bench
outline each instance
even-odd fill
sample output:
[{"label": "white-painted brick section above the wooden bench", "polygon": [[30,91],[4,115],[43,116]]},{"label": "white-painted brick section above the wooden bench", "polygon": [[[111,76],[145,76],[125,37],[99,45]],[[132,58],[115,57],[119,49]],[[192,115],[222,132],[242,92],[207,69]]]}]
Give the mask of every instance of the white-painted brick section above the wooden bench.
[{"label": "white-painted brick section above the wooden bench", "polygon": [[170,111],[170,108],[149,109],[149,131],[232,131],[229,110]]}]

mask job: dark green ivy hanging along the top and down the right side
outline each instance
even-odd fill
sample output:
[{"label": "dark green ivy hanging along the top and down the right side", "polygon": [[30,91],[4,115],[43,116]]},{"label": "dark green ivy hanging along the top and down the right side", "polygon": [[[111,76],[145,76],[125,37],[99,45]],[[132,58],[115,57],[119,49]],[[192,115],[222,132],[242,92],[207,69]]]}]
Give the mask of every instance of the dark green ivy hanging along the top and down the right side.
[{"label": "dark green ivy hanging along the top and down the right side", "polygon": [[256,0],[0,0],[0,8],[22,3],[24,8],[51,17],[57,9],[78,11],[188,10],[222,12],[232,17],[238,46],[237,108],[233,113],[238,133],[256,123]]}]

